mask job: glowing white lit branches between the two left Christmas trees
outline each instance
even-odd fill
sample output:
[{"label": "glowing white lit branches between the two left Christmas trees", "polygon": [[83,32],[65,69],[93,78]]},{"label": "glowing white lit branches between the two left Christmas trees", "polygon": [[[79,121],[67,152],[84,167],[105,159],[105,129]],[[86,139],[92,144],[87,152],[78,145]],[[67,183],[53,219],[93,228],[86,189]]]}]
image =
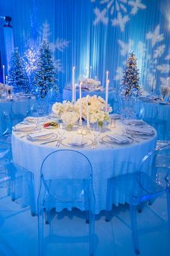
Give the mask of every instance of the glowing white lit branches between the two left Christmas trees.
[{"label": "glowing white lit branches between the two left Christmas trees", "polygon": [[37,51],[30,47],[24,52],[23,62],[24,62],[24,69],[27,73],[27,77],[29,80],[30,90],[32,90],[32,80],[34,78],[36,66],[36,57]]}]

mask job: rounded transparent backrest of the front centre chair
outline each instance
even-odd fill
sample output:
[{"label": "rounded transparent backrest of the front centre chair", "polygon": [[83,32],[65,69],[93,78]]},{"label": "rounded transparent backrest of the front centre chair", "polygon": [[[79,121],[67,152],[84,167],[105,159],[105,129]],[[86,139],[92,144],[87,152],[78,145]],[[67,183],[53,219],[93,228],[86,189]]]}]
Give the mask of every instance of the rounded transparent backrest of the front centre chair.
[{"label": "rounded transparent backrest of the front centre chair", "polygon": [[[76,189],[80,187],[79,192],[91,189],[91,163],[84,154],[76,150],[56,150],[50,153],[42,161],[40,172],[41,188],[43,184],[46,191],[55,198],[58,198],[58,194],[60,194],[61,201],[68,197],[75,198],[73,194],[77,193]],[[56,189],[52,189],[52,183]],[[73,190],[70,184],[72,184]],[[61,189],[57,190],[58,187]],[[63,187],[65,192],[62,193]]]}]

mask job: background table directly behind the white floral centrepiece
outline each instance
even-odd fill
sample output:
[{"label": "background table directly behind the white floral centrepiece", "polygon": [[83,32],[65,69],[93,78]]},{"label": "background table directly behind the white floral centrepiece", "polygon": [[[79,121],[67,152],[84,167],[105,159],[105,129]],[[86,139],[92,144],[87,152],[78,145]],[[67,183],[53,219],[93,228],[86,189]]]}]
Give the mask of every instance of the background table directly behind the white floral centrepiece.
[{"label": "background table directly behind the white floral centrepiece", "polygon": [[[105,90],[81,90],[81,96],[86,97],[87,95],[93,96],[97,95],[97,97],[102,97],[105,99]],[[79,98],[79,89],[76,89],[76,100]],[[109,89],[108,95],[108,103],[110,106],[113,105],[113,101],[115,98],[115,89]],[[63,101],[72,101],[72,90],[71,89],[63,89]]]}]

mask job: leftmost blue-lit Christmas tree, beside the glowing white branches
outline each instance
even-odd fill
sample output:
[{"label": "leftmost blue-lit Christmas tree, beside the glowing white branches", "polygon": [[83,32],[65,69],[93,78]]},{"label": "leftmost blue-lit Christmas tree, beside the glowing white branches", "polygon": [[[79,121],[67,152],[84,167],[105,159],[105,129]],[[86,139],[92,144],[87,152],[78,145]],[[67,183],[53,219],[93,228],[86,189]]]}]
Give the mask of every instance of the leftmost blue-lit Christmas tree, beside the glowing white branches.
[{"label": "leftmost blue-lit Christmas tree, beside the glowing white branches", "polygon": [[22,58],[19,56],[19,48],[14,48],[9,62],[8,83],[14,87],[14,92],[29,92],[29,81],[24,69]]}]

